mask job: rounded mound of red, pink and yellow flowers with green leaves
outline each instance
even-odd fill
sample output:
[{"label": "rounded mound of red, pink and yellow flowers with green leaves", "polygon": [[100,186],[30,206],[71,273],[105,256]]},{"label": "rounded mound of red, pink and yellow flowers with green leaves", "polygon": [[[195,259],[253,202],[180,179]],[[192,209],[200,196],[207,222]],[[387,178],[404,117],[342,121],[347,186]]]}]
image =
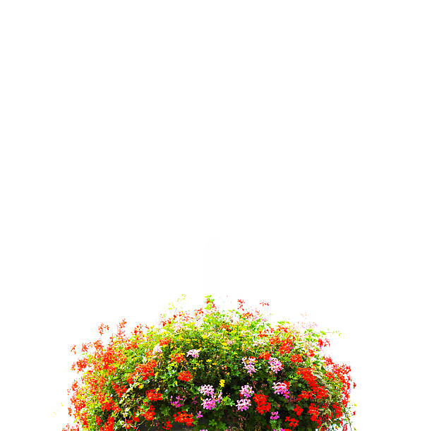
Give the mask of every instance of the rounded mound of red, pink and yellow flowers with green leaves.
[{"label": "rounded mound of red, pink and yellow flowers with green leaves", "polygon": [[123,320],[106,344],[83,344],[72,366],[80,382],[69,389],[77,425],[63,431],[347,430],[355,384],[349,366],[323,355],[325,332],[205,298],[194,312],[130,335]]}]

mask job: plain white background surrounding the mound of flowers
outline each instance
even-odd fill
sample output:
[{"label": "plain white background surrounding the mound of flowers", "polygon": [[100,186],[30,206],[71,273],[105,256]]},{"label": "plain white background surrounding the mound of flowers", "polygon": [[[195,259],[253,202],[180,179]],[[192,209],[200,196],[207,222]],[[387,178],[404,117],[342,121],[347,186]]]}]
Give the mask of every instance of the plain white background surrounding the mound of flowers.
[{"label": "plain white background surrounding the mound of flowers", "polygon": [[338,329],[359,431],[431,430],[428,1],[2,1],[1,425],[186,293]]}]

